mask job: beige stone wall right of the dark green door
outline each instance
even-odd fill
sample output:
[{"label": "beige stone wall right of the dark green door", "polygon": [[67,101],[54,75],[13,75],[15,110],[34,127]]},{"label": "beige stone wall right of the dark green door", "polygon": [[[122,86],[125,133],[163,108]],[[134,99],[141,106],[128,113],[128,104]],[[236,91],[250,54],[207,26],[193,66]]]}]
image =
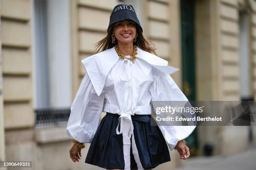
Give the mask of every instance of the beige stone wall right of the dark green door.
[{"label": "beige stone wall right of the dark green door", "polygon": [[[239,0],[239,2],[238,0],[196,1],[197,100],[240,100],[239,69],[243,68],[239,68],[238,12],[244,1]],[[256,2],[250,2],[255,8]],[[255,11],[251,13],[251,22],[254,15]],[[252,42],[255,41],[254,28],[255,25],[252,24],[250,36]],[[255,46],[252,45],[251,60],[255,61],[253,49]],[[255,64],[251,67],[251,74],[255,75]],[[252,77],[251,80],[254,81],[251,87],[255,89],[255,78]],[[206,142],[215,145],[214,154],[234,153],[249,146],[246,126],[200,126],[198,129],[201,152]],[[253,127],[253,131],[256,136],[256,128]]]}]

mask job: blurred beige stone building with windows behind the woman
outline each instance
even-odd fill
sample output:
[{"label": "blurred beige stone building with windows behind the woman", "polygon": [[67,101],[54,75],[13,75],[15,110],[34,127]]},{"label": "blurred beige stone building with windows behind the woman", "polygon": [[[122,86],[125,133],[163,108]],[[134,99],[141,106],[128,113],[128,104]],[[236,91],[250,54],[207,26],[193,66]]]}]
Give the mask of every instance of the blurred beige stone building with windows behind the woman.
[{"label": "blurred beige stone building with windows behind the woman", "polygon": [[[95,53],[118,3],[133,5],[157,55],[181,68],[172,77],[189,100],[256,99],[256,0],[0,0],[0,161],[100,169],[84,163],[89,144],[72,162],[65,128],[81,60]],[[255,143],[249,126],[198,126],[187,139],[192,156]],[[170,154],[156,169],[182,165]]]}]

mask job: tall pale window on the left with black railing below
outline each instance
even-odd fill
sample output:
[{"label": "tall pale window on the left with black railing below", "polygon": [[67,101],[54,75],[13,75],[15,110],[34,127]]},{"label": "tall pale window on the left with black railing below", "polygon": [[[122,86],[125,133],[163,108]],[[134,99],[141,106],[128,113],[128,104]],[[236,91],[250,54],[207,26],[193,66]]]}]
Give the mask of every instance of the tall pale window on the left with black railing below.
[{"label": "tall pale window on the left with black railing below", "polygon": [[65,115],[72,102],[69,8],[69,0],[33,0],[36,123],[68,119]]}]

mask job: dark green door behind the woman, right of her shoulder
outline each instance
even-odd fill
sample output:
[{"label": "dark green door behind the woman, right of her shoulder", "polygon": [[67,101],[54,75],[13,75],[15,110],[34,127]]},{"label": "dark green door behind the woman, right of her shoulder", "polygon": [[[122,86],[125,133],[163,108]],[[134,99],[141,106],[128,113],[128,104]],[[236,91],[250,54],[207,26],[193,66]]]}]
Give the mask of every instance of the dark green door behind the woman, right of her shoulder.
[{"label": "dark green door behind the woman, right of her shoulder", "polygon": [[[189,101],[196,100],[195,89],[195,0],[181,0],[181,47],[182,47],[182,90]],[[190,155],[197,155],[197,128],[188,138],[186,145]]]}]

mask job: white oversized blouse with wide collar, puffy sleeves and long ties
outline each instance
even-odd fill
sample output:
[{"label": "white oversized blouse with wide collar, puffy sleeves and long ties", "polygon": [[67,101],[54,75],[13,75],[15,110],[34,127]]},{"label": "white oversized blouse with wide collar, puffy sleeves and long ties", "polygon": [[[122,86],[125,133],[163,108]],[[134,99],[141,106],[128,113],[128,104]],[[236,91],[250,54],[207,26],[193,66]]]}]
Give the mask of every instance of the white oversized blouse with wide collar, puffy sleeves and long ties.
[{"label": "white oversized blouse with wide collar, puffy sleeves and long ties", "polygon": [[[152,101],[188,101],[169,74],[179,70],[167,66],[166,60],[138,49],[135,63],[118,57],[114,47],[82,60],[87,71],[71,106],[67,135],[81,143],[91,143],[102,112],[120,115],[125,170],[130,167],[130,147],[142,169],[133,138],[131,115],[151,114]],[[127,56],[129,57],[129,56]],[[195,126],[159,126],[173,150],[179,140],[187,138]]]}]

